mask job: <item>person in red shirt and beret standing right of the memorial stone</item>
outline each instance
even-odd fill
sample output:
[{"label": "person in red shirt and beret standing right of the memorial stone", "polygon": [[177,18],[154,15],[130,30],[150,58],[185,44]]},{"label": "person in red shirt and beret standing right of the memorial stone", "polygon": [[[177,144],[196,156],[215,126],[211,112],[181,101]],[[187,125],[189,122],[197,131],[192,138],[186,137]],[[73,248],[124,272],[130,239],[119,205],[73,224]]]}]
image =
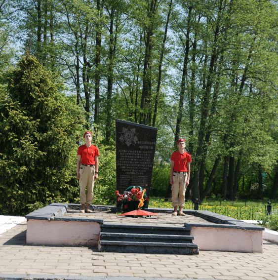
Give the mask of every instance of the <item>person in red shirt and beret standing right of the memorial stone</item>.
[{"label": "person in red shirt and beret standing right of the memorial stone", "polygon": [[[182,208],[185,203],[186,187],[190,179],[191,155],[185,151],[185,139],[177,142],[178,151],[171,156],[170,184],[172,185],[172,205],[174,206],[173,216],[185,216]],[[179,212],[177,208],[179,206]]]}]

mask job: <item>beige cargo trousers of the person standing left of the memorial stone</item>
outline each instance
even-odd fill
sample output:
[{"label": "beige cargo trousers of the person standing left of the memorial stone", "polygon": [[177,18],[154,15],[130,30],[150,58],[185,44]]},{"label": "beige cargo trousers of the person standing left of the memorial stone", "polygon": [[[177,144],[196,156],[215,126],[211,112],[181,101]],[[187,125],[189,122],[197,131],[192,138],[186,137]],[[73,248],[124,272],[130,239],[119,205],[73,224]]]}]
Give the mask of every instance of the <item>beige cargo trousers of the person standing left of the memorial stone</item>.
[{"label": "beige cargo trousers of the person standing left of the memorial stone", "polygon": [[[79,168],[79,187],[80,187],[80,203],[91,204],[94,197],[94,184],[95,184],[95,166],[80,165]],[[87,188],[87,194],[86,194]]]}]

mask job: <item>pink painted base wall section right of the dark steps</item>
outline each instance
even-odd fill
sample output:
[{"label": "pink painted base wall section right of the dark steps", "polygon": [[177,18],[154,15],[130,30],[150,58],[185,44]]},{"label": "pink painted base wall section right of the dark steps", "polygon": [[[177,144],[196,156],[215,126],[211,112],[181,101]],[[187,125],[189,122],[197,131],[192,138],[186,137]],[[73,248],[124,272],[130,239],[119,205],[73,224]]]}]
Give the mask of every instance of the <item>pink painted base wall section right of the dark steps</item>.
[{"label": "pink painted base wall section right of the dark steps", "polygon": [[192,227],[191,235],[200,250],[263,252],[263,232],[225,228]]}]

